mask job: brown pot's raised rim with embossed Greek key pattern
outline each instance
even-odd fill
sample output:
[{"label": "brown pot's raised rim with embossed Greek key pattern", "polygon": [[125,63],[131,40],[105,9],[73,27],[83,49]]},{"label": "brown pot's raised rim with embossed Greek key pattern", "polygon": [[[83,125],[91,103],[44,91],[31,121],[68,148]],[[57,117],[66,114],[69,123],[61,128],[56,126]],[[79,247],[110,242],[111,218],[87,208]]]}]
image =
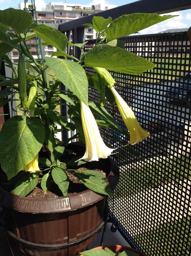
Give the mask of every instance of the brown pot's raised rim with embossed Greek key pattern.
[{"label": "brown pot's raised rim with embossed Greek key pattern", "polygon": [[[105,181],[114,189],[119,180],[119,169],[111,158],[108,159],[110,162],[110,173],[105,178]],[[83,192],[63,197],[30,198],[17,196],[0,188],[0,205],[2,207],[34,214],[75,211],[76,209],[92,205],[105,197],[107,196],[87,189]]]}]

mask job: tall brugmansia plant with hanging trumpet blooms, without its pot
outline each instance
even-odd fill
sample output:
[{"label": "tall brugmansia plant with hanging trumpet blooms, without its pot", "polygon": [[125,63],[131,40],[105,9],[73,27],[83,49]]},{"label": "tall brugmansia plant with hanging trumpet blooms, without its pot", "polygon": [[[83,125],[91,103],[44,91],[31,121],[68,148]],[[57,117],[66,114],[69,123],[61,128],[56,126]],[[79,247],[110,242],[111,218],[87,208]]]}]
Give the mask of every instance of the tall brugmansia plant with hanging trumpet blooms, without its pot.
[{"label": "tall brugmansia plant with hanging trumpet blooms, without its pot", "polygon": [[[8,184],[15,184],[13,194],[26,196],[37,185],[47,191],[55,182],[65,196],[69,187],[67,173],[70,172],[95,192],[112,195],[104,175],[92,170],[69,169],[67,162],[60,158],[73,137],[62,142],[56,139],[57,125],[69,131],[76,129],[74,137],[86,144],[85,155],[75,158],[73,163],[107,158],[115,150],[104,143],[98,125],[121,132],[127,144],[147,138],[148,132],[140,127],[131,108],[114,88],[115,80],[107,70],[139,75],[154,68],[152,62],[124,50],[124,43],[119,38],[171,17],[140,13],[123,15],[116,20],[93,17],[93,24],[85,25],[94,28],[98,38],[85,55],[85,43],[72,44],[60,31],[45,24],[35,24],[29,13],[12,8],[0,11],[0,59],[13,71],[13,78],[0,75],[0,107],[17,100],[17,107],[23,113],[6,120],[0,131],[0,166]],[[42,62],[37,61],[29,48],[33,37],[39,37],[57,51]],[[68,55],[68,46],[79,47],[82,58]],[[19,54],[17,64],[9,58],[14,48]],[[92,68],[91,75],[86,75],[87,67]],[[100,103],[88,102],[88,82],[100,92]],[[66,91],[61,89],[61,83]],[[105,110],[108,95],[116,100],[128,132],[122,130]],[[67,102],[67,117],[57,111],[61,99]],[[109,97],[107,99],[110,101]],[[40,152],[44,157],[39,158]]]}]

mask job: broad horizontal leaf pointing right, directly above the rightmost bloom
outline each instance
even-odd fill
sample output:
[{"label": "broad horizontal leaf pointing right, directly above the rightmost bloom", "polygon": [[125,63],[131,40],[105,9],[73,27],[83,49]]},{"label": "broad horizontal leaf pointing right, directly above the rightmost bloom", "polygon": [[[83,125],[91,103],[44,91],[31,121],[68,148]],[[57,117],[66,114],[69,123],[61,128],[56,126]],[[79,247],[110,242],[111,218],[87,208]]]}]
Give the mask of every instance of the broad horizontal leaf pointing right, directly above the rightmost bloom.
[{"label": "broad horizontal leaf pointing right, directly above the rightmost bloom", "polygon": [[102,67],[112,71],[139,75],[154,64],[117,46],[96,45],[85,56],[85,64],[91,67]]}]

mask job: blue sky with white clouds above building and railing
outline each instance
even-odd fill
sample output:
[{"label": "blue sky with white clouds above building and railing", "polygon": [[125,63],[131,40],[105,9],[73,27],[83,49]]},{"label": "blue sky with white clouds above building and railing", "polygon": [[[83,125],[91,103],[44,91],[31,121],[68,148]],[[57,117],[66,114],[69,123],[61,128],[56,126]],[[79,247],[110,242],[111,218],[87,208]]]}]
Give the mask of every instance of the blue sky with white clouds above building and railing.
[{"label": "blue sky with white clouds above building and railing", "polygon": [[[4,10],[9,7],[17,8],[17,5],[22,0],[0,0],[0,9]],[[56,2],[59,0],[52,0],[52,2]],[[68,3],[81,3],[81,4],[98,4],[98,3],[107,3],[107,4],[117,4],[117,6],[121,6],[127,3],[135,2],[137,0],[66,0]],[[28,0],[30,3],[31,1]],[[46,4],[51,2],[51,0],[35,0],[35,6],[37,9],[45,8]],[[61,1],[61,2],[65,2]],[[191,9],[185,11],[178,11],[174,13],[170,13],[171,15],[178,15],[170,20],[166,20],[160,22],[152,27],[146,28],[140,31],[140,34],[155,34],[158,32],[162,32],[167,29],[176,29],[176,28],[189,28],[191,27]]]}]

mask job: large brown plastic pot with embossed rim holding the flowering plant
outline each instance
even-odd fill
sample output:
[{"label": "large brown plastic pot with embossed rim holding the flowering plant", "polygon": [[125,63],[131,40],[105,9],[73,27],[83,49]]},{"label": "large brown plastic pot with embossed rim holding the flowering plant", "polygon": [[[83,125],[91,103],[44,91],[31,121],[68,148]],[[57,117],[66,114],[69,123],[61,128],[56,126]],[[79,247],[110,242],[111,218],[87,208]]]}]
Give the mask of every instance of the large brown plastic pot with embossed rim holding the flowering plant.
[{"label": "large brown plastic pot with embossed rim holding the flowering plant", "polygon": [[[114,188],[119,179],[117,165],[104,159],[103,170],[108,174],[106,182]],[[91,190],[48,199],[19,197],[1,190],[0,204],[8,235],[28,256],[77,256],[107,218],[107,197]]]}]

